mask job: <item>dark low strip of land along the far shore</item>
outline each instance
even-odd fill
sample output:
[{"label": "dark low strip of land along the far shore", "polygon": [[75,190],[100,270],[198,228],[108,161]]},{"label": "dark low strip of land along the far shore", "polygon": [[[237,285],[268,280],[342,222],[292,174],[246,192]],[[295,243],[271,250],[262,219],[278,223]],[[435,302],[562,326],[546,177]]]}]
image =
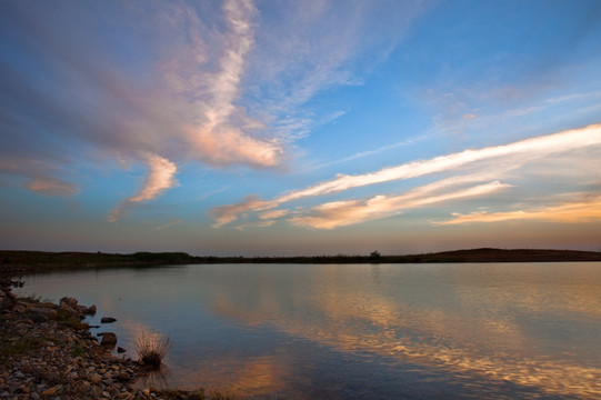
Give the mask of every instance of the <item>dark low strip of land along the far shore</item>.
[{"label": "dark low strip of land along the far shore", "polygon": [[20,274],[54,270],[109,267],[152,267],[166,264],[214,263],[441,263],[441,262],[573,262],[601,261],[601,252],[541,249],[470,249],[434,253],[384,256],[373,251],[368,256],[313,257],[213,257],[190,256],[184,252],[136,252],[130,254],[103,252],[46,252],[0,250],[0,273]]}]

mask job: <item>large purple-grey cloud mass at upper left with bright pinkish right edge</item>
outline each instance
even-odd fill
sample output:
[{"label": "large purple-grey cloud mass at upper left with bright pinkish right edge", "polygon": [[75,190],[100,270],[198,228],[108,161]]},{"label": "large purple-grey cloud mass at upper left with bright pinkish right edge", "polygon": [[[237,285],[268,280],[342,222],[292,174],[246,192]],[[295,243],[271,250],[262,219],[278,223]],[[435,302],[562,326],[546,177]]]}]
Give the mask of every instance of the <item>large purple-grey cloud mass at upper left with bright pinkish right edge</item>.
[{"label": "large purple-grey cloud mass at upper left with bright pinkish right edge", "polygon": [[17,167],[1,172],[31,177],[22,166],[39,160],[59,182],[53,174],[67,162],[110,154],[131,164],[147,153],[218,168],[279,166],[284,148],[241,103],[258,10],[248,0],[214,6],[3,8],[11,58],[0,64],[0,158]]}]

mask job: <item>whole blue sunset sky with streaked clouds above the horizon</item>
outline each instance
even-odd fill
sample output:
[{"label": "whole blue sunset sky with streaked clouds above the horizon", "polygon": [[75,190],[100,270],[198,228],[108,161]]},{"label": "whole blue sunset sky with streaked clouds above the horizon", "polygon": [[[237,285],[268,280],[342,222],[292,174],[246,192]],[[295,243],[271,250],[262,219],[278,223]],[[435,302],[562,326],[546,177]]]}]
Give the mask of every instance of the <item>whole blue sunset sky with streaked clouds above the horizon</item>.
[{"label": "whole blue sunset sky with streaked clouds above the horizon", "polygon": [[0,248],[601,251],[601,2],[0,2]]}]

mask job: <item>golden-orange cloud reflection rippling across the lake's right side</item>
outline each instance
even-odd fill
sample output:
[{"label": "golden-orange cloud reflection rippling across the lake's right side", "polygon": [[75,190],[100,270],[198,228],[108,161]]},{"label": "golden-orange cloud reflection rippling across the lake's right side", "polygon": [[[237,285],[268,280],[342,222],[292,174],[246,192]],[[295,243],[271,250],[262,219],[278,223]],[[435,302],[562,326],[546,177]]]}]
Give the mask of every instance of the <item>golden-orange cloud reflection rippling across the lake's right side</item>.
[{"label": "golden-orange cloud reflection rippling across the lake's right side", "polygon": [[[497,274],[502,280],[503,273]],[[591,398],[601,391],[599,366],[540,353],[535,347],[541,338],[531,336],[519,314],[508,312],[540,313],[542,294],[532,292],[528,281],[512,291],[495,292],[482,289],[487,283],[479,280],[484,278],[461,271],[445,278],[453,282],[451,289],[441,286],[442,292],[437,294],[420,294],[410,283],[401,283],[403,290],[412,291],[408,298],[413,297],[415,303],[365,291],[361,289],[364,282],[329,273],[312,281],[320,293],[317,300],[294,296],[294,303],[310,310],[309,318],[291,312],[282,306],[283,299],[273,296],[262,296],[252,304],[236,301],[248,294],[244,292],[220,296],[213,310],[249,326],[274,324],[290,337],[340,352],[391,357],[401,363],[442,368],[499,384],[511,382],[549,396]],[[562,287],[553,304],[560,307],[569,299],[572,312],[589,312],[591,298],[578,297],[579,289]]]}]

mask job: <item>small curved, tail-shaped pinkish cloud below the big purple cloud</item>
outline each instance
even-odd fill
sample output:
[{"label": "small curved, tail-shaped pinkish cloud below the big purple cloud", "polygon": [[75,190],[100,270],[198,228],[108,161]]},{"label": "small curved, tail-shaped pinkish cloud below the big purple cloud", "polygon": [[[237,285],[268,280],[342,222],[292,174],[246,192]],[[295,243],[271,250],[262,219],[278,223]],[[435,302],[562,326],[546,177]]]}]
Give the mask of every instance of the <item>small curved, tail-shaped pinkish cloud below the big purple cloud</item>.
[{"label": "small curved, tail-shaped pinkish cloud below the big purple cloud", "polygon": [[157,154],[148,154],[146,162],[149,172],[142,188],[138,193],[123,200],[112,210],[108,218],[109,222],[119,220],[126,213],[127,209],[133,207],[136,203],[152,200],[167,189],[176,186],[178,167],[173,162]]}]

